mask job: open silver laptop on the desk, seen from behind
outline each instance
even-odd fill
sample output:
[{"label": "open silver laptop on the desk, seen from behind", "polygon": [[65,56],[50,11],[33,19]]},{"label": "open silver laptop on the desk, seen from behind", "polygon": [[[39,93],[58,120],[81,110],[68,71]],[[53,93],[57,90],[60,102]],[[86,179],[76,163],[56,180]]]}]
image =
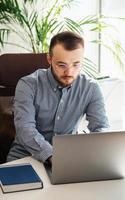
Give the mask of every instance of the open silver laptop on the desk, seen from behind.
[{"label": "open silver laptop on the desk, seen from behind", "polygon": [[54,136],[53,150],[52,184],[125,176],[125,132]]}]

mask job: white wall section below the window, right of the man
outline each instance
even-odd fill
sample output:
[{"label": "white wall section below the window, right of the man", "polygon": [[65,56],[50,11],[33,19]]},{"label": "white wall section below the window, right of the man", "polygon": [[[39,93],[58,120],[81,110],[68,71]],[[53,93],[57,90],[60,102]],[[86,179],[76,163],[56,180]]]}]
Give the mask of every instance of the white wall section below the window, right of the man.
[{"label": "white wall section below the window, right of the man", "polygon": [[111,130],[125,129],[125,81],[109,78],[100,81]]}]

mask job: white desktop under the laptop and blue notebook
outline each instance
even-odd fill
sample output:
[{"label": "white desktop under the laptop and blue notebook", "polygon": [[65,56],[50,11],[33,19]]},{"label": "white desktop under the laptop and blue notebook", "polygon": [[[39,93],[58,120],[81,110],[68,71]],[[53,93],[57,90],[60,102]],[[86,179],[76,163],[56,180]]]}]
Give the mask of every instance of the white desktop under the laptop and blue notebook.
[{"label": "white desktop under the laptop and blue notebook", "polygon": [[11,163],[30,162],[43,180],[44,188],[3,194],[0,200],[125,200],[125,180],[51,185],[44,166],[31,157]]}]

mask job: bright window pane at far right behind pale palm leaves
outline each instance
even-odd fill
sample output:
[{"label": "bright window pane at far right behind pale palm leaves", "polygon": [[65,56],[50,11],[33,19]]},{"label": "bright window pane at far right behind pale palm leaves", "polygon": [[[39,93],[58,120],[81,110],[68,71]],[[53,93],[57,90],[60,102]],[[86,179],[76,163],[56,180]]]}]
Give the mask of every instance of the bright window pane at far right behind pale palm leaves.
[{"label": "bright window pane at far right behind pale palm leaves", "polygon": [[[124,17],[124,8],[125,2],[122,0],[100,0],[101,4],[101,14],[107,17]],[[108,44],[110,48],[115,51],[112,40],[117,41],[122,44],[123,49],[125,49],[125,20],[117,20],[107,18],[105,20],[106,23],[113,25],[115,28],[108,28],[105,32],[105,36],[102,34],[102,42]],[[106,50],[103,46],[101,46],[101,72],[103,74],[108,74],[112,77],[124,77],[124,70],[122,70],[125,66],[125,54],[118,50],[118,55],[121,59],[121,65],[113,58],[110,51]]]}]

